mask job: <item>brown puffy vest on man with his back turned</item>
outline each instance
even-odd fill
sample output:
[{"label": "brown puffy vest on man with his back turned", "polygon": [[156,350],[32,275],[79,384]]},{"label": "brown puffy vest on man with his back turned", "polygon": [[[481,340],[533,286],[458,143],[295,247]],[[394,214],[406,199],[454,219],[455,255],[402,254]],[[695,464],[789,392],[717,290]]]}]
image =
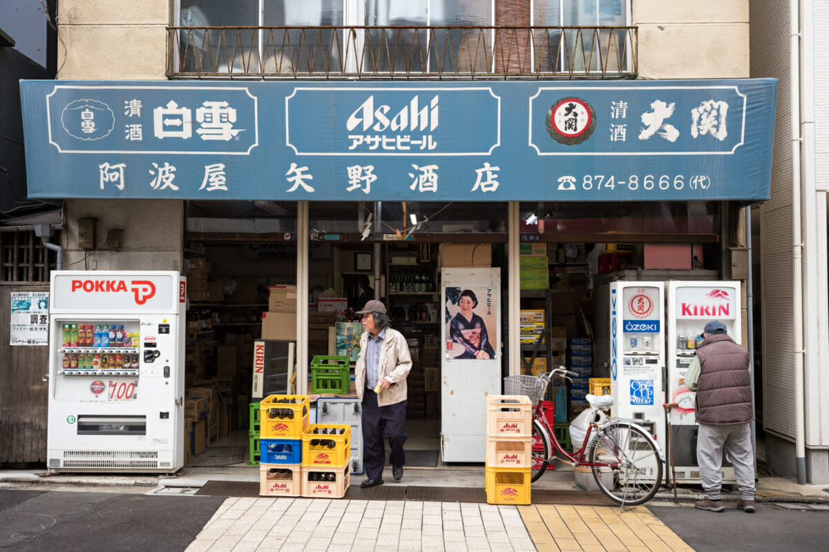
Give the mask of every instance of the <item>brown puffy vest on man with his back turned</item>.
[{"label": "brown puffy vest on man with his back turned", "polygon": [[696,421],[711,425],[751,421],[749,352],[727,334],[715,334],[696,349],[696,356],[700,358]]}]

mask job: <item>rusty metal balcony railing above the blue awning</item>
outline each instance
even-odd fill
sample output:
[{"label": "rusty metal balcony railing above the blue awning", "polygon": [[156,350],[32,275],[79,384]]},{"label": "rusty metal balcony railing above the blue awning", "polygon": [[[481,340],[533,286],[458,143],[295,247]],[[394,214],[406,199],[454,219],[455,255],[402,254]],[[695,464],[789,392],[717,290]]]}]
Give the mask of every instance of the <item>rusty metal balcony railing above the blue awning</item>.
[{"label": "rusty metal balcony railing above the blue awning", "polygon": [[171,79],[632,79],[635,26],[170,26]]}]

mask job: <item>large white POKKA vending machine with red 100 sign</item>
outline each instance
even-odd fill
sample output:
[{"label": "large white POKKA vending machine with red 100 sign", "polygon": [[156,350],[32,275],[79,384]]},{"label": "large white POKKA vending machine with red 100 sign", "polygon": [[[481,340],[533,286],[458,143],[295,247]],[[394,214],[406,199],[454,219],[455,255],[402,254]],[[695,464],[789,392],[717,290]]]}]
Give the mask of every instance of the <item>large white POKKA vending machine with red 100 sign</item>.
[{"label": "large white POKKA vending machine with red 100 sign", "polygon": [[182,467],[185,286],[175,271],[51,273],[52,472]]}]

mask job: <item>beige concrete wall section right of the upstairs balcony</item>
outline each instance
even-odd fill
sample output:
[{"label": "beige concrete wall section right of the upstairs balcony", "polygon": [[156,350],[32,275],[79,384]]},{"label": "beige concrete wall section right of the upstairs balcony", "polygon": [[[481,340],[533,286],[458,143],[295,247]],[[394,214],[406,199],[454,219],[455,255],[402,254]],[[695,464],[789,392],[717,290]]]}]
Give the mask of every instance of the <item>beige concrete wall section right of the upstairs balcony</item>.
[{"label": "beige concrete wall section right of the upstairs balcony", "polygon": [[749,0],[631,0],[639,27],[639,76],[749,76]]}]

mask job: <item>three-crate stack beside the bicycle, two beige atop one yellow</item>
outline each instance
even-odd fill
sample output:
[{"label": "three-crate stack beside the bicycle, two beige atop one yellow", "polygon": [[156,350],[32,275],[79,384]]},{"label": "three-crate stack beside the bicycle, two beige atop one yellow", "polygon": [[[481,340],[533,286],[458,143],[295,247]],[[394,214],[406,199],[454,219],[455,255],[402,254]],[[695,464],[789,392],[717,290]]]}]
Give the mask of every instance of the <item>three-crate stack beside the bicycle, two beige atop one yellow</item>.
[{"label": "three-crate stack beside the bicycle, two beige atop one yellow", "polygon": [[524,395],[487,396],[487,502],[529,504],[532,403]]}]

